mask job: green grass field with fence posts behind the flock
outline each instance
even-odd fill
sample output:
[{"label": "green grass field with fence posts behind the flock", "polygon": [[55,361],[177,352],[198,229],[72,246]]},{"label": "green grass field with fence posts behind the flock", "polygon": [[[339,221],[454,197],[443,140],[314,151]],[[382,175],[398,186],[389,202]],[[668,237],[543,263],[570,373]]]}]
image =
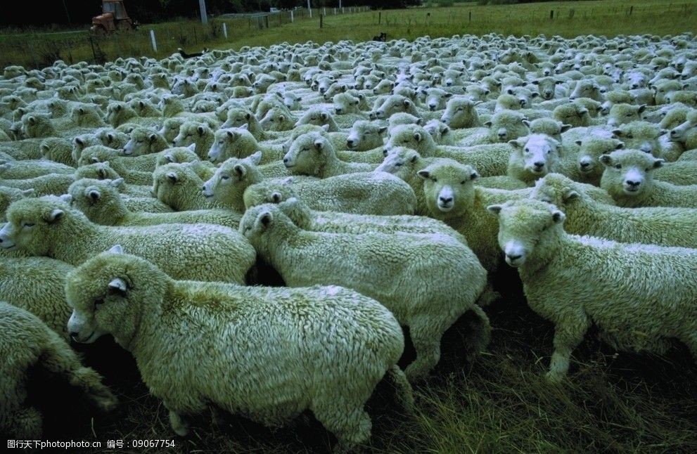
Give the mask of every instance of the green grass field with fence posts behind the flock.
[{"label": "green grass field with fence posts behind the flock", "polygon": [[[631,14],[630,8],[632,8]],[[554,11],[554,19],[550,19]],[[337,14],[326,9],[324,27],[319,28],[319,14],[313,17],[298,10],[295,22],[289,13],[269,16],[266,22],[257,18],[229,18],[212,20],[212,25],[200,22],[175,21],[143,25],[137,32],[89,39],[86,24],[82,32],[0,32],[0,67],[24,65],[44,67],[56,58],[68,63],[85,60],[94,63],[95,53],[103,53],[107,60],[127,56],[162,58],[181,46],[187,51],[209,48],[240,48],[241,46],[268,46],[281,41],[365,41],[379,32],[388,39],[429,35],[449,37],[454,34],[501,34],[548,36],[558,34],[573,37],[579,34],[677,34],[697,30],[697,2],[694,0],[598,0],[563,1],[511,6],[478,6],[474,2],[443,8],[411,8],[408,10],[369,11],[366,13]],[[470,16],[471,14],[471,16]],[[470,20],[471,17],[471,20]],[[222,22],[228,29],[228,38],[222,33]],[[378,23],[379,22],[379,23]],[[153,51],[149,31],[155,30],[158,53]],[[92,45],[96,46],[93,52]]]}]

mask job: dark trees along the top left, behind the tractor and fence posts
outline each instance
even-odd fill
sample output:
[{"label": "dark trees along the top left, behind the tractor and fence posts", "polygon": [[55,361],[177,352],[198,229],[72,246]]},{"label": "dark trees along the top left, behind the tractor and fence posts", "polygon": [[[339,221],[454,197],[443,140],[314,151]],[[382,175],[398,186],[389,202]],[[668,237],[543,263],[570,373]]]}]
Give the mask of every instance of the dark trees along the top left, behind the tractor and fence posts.
[{"label": "dark trees along the top left, behind the tractor and fence posts", "polygon": [[[45,27],[49,25],[84,25],[101,13],[101,0],[51,0],[17,1],[0,15],[3,27]],[[312,0],[313,8],[338,6],[338,0]],[[418,4],[418,0],[343,0],[342,6],[373,8],[404,8]],[[157,22],[171,18],[198,18],[198,0],[125,0],[124,6],[131,18],[141,23]],[[248,13],[269,11],[269,8],[307,7],[307,0],[206,0],[208,14]]]}]

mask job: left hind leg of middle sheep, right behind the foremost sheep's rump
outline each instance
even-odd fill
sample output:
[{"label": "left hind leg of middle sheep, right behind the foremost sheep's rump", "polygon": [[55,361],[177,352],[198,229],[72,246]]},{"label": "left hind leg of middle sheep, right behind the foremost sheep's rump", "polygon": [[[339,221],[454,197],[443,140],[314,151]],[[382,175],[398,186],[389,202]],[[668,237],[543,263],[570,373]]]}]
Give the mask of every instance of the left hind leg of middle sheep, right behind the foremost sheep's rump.
[{"label": "left hind leg of middle sheep, right behind the foremost sheep's rump", "polygon": [[426,376],[440,361],[440,338],[445,328],[439,329],[439,325],[443,323],[435,323],[435,320],[426,316],[410,320],[409,333],[416,350],[416,359],[404,370],[409,382],[413,383]]}]

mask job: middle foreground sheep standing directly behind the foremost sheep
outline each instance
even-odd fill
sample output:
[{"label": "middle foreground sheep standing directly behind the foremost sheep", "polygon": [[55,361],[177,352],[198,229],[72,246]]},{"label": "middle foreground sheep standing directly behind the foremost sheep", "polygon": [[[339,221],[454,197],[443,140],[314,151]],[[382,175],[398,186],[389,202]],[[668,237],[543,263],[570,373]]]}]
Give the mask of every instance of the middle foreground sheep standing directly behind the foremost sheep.
[{"label": "middle foreground sheep standing directly behind the foremost sheep", "polygon": [[[404,371],[410,381],[437,364],[440,337],[463,313],[478,318],[467,342],[471,355],[489,341],[489,320],[475,304],[485,291],[486,271],[468,247],[451,237],[306,231],[276,204],[248,209],[240,232],[290,287],[343,285],[392,311],[400,325],[409,326],[416,349],[416,360]],[[420,278],[414,280],[415,275]],[[432,280],[439,285],[423,286]]]}]

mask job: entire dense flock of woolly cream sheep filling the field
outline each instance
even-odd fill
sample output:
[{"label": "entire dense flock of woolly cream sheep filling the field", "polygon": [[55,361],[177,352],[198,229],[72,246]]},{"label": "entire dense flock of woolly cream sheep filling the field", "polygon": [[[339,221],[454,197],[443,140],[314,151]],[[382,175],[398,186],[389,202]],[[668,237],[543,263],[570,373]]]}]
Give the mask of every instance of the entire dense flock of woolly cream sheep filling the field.
[{"label": "entire dense flock of woolly cream sheep filling the field", "polygon": [[696,56],[489,34],[6,67],[0,432],[41,436],[33,366],[114,408],[68,345],[112,335],[179,435],[210,404],[309,409],[351,449],[463,314],[486,349],[504,260],[554,323],[551,381],[591,325],[697,355]]}]

